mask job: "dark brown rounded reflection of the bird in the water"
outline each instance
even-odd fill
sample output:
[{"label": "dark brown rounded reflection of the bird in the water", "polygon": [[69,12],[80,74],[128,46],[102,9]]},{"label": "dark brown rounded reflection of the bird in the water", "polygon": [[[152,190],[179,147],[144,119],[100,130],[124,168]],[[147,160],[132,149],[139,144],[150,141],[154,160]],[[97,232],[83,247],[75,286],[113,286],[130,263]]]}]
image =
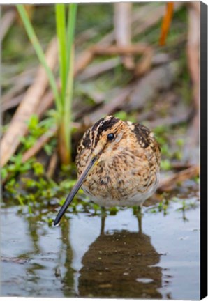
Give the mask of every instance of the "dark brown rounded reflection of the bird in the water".
[{"label": "dark brown rounded reflection of the bird in the water", "polygon": [[126,230],[104,233],[82,258],[79,295],[82,297],[162,298],[160,255],[150,237]]}]

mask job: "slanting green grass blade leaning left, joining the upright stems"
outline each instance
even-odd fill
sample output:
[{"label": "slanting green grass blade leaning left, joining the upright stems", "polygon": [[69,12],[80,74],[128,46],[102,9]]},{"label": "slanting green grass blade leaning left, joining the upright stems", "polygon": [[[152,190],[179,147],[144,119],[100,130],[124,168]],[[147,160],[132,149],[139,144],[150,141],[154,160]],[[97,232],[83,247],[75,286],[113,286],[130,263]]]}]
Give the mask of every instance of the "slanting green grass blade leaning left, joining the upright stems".
[{"label": "slanting green grass blade leaning left, joining the upright stems", "polygon": [[48,80],[50,82],[50,86],[52,88],[53,94],[54,94],[57,110],[60,112],[61,111],[61,103],[60,103],[60,98],[59,98],[59,92],[58,92],[58,89],[57,89],[56,80],[54,78],[52,70],[47,65],[47,62],[45,60],[45,54],[44,54],[43,49],[42,49],[42,47],[41,47],[41,45],[38,41],[36,33],[34,32],[33,26],[31,25],[31,22],[29,20],[29,17],[27,15],[27,12],[26,12],[24,6],[22,4],[17,4],[17,10],[20,14],[20,17],[22,19],[24,27],[27,31],[27,35],[29,36],[29,40],[31,40],[31,44],[33,45],[33,47],[36,51],[38,59],[39,59],[41,65],[43,65],[43,67],[45,68],[45,72],[47,73],[47,77],[48,77]]}]

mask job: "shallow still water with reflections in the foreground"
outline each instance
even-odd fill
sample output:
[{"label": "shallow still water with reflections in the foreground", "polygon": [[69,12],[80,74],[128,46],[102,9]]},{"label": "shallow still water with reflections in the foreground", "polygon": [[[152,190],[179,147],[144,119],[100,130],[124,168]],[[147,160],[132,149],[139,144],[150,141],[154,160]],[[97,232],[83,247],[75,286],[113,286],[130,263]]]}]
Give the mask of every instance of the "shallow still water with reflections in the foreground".
[{"label": "shallow still water with reflections in the foreground", "polygon": [[198,300],[200,208],[193,202],[181,211],[181,202],[170,201],[166,215],[144,207],[142,231],[131,208],[119,210],[106,217],[103,233],[101,217],[90,213],[49,227],[19,206],[3,208],[1,295]]}]

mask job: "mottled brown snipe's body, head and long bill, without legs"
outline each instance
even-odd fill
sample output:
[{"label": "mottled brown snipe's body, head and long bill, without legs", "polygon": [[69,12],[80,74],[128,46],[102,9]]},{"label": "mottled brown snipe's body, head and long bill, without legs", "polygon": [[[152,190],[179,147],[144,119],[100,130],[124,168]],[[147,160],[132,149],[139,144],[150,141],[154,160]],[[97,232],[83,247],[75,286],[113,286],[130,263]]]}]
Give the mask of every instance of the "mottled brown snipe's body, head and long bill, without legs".
[{"label": "mottled brown snipe's body, head and long bill, without legs", "polygon": [[144,125],[107,116],[84,133],[77,147],[77,184],[54,224],[82,185],[100,206],[141,206],[156,190],[161,151]]}]

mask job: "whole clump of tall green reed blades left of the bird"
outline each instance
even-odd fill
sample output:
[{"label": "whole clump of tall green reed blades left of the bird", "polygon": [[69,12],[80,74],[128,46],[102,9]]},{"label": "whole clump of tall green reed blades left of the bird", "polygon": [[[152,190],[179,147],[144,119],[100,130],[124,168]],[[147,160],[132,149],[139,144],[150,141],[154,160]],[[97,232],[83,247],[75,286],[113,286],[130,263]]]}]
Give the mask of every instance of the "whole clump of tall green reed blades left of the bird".
[{"label": "whole clump of tall green reed blades left of the bird", "polygon": [[[68,14],[66,14],[68,7]],[[72,102],[73,102],[73,61],[74,61],[74,35],[77,4],[56,4],[57,40],[59,45],[59,77],[61,79],[61,91],[57,89],[56,80],[52,70],[47,65],[45,54],[38,41],[34,28],[29,20],[27,11],[22,4],[17,4],[24,28],[27,31],[40,63],[45,68],[52,92],[54,94],[57,109],[59,155],[61,162],[69,164],[71,160],[71,130]]]}]

